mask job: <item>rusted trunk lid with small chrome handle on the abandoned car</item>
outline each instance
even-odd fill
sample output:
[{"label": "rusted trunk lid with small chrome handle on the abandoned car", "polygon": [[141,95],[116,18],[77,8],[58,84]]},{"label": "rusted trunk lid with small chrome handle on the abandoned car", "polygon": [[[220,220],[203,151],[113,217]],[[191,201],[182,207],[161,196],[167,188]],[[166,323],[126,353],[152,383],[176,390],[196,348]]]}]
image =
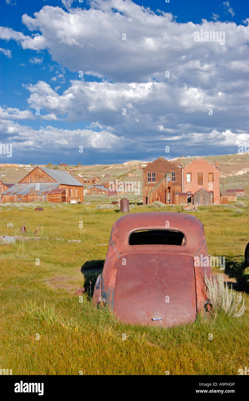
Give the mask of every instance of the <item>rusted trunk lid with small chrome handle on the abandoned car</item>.
[{"label": "rusted trunk lid with small chrome handle on the abandoned car", "polygon": [[149,326],[168,327],[195,320],[193,257],[165,253],[122,255],[113,312],[123,322]]}]

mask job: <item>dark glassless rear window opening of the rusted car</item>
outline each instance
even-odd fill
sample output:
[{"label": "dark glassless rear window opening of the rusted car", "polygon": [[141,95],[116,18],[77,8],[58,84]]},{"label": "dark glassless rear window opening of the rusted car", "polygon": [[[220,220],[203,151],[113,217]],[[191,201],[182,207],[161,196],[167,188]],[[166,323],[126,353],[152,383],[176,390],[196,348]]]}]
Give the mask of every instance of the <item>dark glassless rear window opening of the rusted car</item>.
[{"label": "dark glassless rear window opening of the rusted car", "polygon": [[175,230],[140,230],[133,231],[129,245],[185,245],[185,236]]}]

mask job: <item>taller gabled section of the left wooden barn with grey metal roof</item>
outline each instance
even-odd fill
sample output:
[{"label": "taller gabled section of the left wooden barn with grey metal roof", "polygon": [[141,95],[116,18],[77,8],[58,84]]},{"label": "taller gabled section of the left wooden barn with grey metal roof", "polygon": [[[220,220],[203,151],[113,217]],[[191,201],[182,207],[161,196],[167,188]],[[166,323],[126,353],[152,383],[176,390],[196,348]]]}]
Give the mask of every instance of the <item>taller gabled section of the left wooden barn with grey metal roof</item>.
[{"label": "taller gabled section of the left wooden barn with grey metal roof", "polygon": [[[66,202],[71,200],[83,201],[84,184],[76,180],[73,176],[66,171],[53,170],[51,168],[37,166],[34,170],[30,171],[19,184],[33,184],[33,183],[56,183],[55,188],[66,189]],[[53,189],[53,188],[51,188]]]}]

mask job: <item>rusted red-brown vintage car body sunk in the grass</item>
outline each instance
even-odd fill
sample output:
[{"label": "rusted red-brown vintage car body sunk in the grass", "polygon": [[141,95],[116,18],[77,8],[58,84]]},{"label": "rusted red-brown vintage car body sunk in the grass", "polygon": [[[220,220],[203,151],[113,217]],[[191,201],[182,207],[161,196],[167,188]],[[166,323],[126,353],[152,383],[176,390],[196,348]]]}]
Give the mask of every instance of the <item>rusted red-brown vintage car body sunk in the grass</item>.
[{"label": "rusted red-brown vintage car body sunk in the grass", "polygon": [[[93,304],[108,306],[129,324],[170,327],[205,313],[208,257],[202,223],[185,213],[149,212],[120,217],[112,226]],[[204,259],[205,260],[205,259]],[[201,263],[199,263],[201,264]]]}]

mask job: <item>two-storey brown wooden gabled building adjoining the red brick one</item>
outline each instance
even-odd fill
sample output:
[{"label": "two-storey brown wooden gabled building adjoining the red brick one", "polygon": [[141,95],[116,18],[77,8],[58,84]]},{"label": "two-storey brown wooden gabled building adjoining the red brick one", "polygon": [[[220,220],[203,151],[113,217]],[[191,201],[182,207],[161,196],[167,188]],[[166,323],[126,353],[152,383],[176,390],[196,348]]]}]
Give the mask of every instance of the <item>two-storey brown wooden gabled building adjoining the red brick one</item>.
[{"label": "two-storey brown wooden gabled building adjoining the red brick one", "polygon": [[182,192],[181,166],[162,156],[143,168],[143,205],[160,201],[175,203],[175,193]]}]

